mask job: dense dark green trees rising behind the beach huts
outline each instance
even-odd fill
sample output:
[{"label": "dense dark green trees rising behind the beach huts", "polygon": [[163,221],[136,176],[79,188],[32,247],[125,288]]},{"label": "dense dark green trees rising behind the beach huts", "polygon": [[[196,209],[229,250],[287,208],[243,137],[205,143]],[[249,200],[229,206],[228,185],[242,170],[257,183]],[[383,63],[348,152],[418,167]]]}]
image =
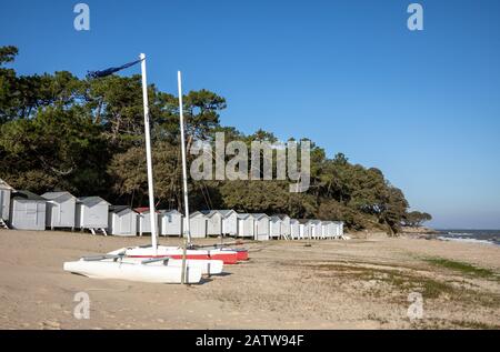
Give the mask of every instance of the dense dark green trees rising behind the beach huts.
[{"label": "dense dark green trees rising behind the beach huts", "polygon": [[[18,49],[0,48],[0,178],[33,192],[67,190],[101,195],[114,204],[147,203],[140,76],[79,79],[70,72],[18,76],[8,68]],[[156,195],[161,208],[181,209],[177,98],[149,87]],[[184,97],[188,143],[276,140],[267,131],[246,135],[219,122],[226,99],[208,90]],[[257,111],[257,108],[256,108]],[[376,169],[352,164],[342,153],[327,158],[312,143],[311,185],[290,193],[284,181],[193,181],[193,209],[289,213],[343,220],[348,228],[391,234],[407,219],[402,191]]]}]

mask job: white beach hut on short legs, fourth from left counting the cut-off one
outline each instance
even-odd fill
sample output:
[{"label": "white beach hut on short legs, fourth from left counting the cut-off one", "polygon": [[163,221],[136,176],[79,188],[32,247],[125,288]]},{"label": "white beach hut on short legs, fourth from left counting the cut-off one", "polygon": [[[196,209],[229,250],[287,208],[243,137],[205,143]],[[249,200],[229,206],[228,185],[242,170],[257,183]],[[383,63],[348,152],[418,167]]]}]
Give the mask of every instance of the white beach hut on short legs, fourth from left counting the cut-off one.
[{"label": "white beach hut on short legs, fourth from left counting the cut-off one", "polygon": [[88,229],[92,233],[101,231],[107,234],[109,205],[100,197],[81,197],[77,199],[74,225],[81,230]]}]

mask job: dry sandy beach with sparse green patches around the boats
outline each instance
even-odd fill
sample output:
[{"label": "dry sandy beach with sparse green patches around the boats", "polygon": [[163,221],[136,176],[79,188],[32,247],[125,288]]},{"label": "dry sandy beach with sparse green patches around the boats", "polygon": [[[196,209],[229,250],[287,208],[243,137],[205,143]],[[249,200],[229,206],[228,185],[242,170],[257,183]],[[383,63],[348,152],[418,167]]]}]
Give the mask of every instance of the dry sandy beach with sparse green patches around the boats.
[{"label": "dry sandy beach with sparse green patches around the boats", "polygon": [[[249,262],[227,265],[226,275],[191,286],[100,281],[62,271],[63,261],[148,241],[0,230],[0,328],[500,328],[500,248],[493,245],[384,238],[312,247],[251,243]],[[437,258],[479,270],[428,261]],[[73,298],[81,291],[90,295],[89,320],[73,318]],[[408,318],[411,292],[423,296],[422,319]]]}]

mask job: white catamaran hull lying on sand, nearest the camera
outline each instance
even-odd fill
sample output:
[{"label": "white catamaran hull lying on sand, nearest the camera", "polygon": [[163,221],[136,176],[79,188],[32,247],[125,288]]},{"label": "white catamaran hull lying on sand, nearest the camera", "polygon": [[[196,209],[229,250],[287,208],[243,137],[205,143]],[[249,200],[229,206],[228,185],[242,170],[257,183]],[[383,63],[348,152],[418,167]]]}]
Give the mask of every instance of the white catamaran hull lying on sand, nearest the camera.
[{"label": "white catamaran hull lying on sand, nearest the camera", "polygon": [[[181,283],[182,268],[151,265],[120,261],[84,261],[66,262],[64,271],[92,279],[118,279],[150,283]],[[188,266],[186,283],[199,283],[201,269]]]}]

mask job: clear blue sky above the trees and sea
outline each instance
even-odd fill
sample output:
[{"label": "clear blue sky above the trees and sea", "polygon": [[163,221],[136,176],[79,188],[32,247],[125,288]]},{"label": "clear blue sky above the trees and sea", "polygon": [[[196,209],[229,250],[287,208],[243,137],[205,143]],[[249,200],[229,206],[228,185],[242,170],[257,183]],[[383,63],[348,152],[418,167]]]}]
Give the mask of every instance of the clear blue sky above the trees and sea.
[{"label": "clear blue sky above the trees and sea", "polygon": [[[383,170],[437,228],[500,229],[500,2],[0,0],[22,74],[149,57],[149,81],[228,100],[222,123],[309,137]],[[83,1],[82,1],[83,2]],[[414,1],[417,2],[417,1]]]}]

